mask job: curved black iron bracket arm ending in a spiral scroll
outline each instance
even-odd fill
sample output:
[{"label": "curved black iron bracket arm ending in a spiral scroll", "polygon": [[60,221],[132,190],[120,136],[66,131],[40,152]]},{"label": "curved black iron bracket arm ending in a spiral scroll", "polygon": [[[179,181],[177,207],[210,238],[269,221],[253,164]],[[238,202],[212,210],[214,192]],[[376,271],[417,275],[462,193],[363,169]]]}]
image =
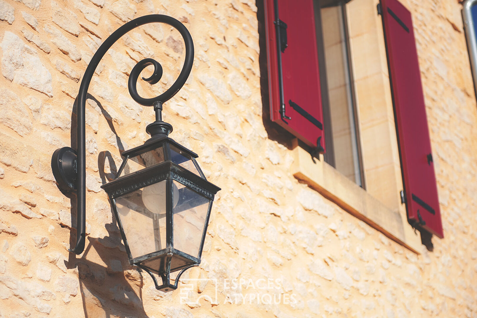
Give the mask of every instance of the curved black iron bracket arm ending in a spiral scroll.
[{"label": "curved black iron bracket arm ending in a spiral scroll", "polygon": [[162,76],[162,66],[159,62],[153,59],[144,59],[139,61],[129,77],[128,88],[131,97],[139,104],[145,106],[153,106],[155,102],[165,103],[171,99],[187,81],[187,78],[192,70],[192,63],[194,61],[194,44],[192,37],[190,36],[187,28],[180,21],[162,14],[150,14],[132,21],[127,22],[123,26],[114,31],[98,48],[94,53],[93,58],[88,64],[86,71],[83,74],[83,80],[81,81],[80,90],[78,92],[77,100],[77,181],[76,181],[76,195],[77,195],[77,226],[76,226],[76,245],[70,252],[75,254],[81,254],[84,250],[85,236],[86,236],[86,147],[85,147],[85,106],[86,95],[88,93],[88,87],[93,77],[94,71],[99,62],[103,58],[104,54],[111,48],[111,46],[119,40],[127,32],[148,23],[165,23],[174,27],[182,35],[186,46],[186,57],[184,65],[177,78],[176,82],[172,84],[166,92],[155,98],[143,98],[139,96],[136,90],[136,81],[142,70],[148,65],[154,65],[154,73],[149,78],[144,79],[150,84],[155,84]]}]

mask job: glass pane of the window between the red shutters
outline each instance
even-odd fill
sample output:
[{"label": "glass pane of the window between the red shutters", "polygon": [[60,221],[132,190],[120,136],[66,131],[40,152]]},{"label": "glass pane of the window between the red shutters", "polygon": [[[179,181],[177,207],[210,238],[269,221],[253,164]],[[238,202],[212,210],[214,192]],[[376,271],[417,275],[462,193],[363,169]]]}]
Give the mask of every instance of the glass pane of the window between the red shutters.
[{"label": "glass pane of the window between the red shutters", "polygon": [[350,51],[343,10],[342,3],[321,8],[334,166],[362,185]]}]

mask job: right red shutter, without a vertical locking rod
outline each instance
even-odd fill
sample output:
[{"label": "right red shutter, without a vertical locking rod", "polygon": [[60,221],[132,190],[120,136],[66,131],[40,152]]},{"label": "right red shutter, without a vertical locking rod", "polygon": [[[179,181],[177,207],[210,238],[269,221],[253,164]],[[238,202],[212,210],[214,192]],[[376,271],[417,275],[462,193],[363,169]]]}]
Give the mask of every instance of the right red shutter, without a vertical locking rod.
[{"label": "right red shutter, without a vertical locking rod", "polygon": [[443,238],[411,13],[381,0],[409,223]]}]

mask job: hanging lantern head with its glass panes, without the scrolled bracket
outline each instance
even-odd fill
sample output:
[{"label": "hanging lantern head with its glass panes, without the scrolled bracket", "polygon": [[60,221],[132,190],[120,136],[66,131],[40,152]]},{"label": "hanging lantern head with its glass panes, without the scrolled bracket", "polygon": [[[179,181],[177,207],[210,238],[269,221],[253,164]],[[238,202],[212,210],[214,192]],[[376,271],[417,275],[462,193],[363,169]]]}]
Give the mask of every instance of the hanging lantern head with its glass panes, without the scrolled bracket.
[{"label": "hanging lantern head with its glass panes, without the scrolled bracket", "polygon": [[206,180],[197,154],[166,135],[155,135],[122,155],[118,174],[127,174],[102,187],[129,261],[159,274],[163,283],[158,289],[175,289],[169,273],[200,263],[212,201],[220,189]]}]

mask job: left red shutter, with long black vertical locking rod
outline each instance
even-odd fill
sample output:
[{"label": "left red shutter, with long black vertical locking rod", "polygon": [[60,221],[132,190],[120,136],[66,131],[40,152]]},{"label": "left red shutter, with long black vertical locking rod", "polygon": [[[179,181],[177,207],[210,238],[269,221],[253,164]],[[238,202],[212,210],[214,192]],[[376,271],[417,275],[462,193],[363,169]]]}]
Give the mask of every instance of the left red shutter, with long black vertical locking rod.
[{"label": "left red shutter, with long black vertical locking rod", "polygon": [[[288,46],[280,52],[285,115],[280,113],[280,76],[277,56],[274,1],[279,18],[286,23]],[[313,0],[265,0],[265,20],[271,120],[309,146],[321,137],[324,149],[320,72],[315,34]],[[280,28],[283,33],[283,28]],[[283,50],[284,49],[284,50]]]}]

